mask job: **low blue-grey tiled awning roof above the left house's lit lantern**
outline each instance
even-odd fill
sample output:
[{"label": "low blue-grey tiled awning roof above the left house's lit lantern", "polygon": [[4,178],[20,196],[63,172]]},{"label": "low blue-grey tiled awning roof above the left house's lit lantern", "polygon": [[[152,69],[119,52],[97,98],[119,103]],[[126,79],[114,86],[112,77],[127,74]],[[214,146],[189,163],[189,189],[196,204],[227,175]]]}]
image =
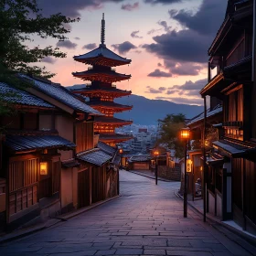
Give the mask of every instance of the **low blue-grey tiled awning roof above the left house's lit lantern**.
[{"label": "low blue-grey tiled awning roof above the left house's lit lantern", "polygon": [[10,135],[5,136],[5,145],[12,150],[28,151],[47,148],[74,148],[76,145],[58,135]]}]

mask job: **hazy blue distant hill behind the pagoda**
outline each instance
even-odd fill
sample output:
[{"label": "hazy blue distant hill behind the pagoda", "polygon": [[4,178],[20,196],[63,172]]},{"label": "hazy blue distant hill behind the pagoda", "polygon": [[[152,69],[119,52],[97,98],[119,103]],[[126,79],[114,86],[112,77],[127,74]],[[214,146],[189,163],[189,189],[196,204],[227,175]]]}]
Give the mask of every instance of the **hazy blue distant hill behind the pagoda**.
[{"label": "hazy blue distant hill behind the pagoda", "polygon": [[[67,87],[68,89],[79,89],[85,85],[74,85]],[[165,118],[168,113],[184,113],[186,118],[190,119],[198,113],[203,112],[202,106],[176,104],[171,101],[149,100],[143,96],[130,95],[114,100],[124,105],[133,105],[133,110],[127,112],[116,113],[117,118],[129,120],[132,119],[135,124],[157,124],[158,119]]]}]

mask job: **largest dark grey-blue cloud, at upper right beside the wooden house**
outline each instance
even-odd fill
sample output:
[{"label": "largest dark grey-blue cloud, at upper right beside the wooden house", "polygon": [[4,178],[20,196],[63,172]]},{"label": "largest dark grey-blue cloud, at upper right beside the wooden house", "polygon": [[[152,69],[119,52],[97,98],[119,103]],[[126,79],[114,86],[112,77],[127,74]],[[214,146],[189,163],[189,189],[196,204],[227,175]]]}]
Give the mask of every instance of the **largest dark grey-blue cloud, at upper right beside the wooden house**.
[{"label": "largest dark grey-blue cloud, at upper right beside the wooden house", "polygon": [[[196,14],[187,10],[171,10],[169,15],[172,19],[179,22],[181,30],[171,29],[165,34],[153,37],[154,43],[144,44],[142,48],[155,54],[158,58],[177,62],[180,66],[174,65],[172,74],[198,74],[201,64],[208,61],[208,48],[212,43],[219,26],[224,19],[227,2],[223,0],[203,0]],[[168,27],[167,24],[159,24]],[[185,64],[191,65],[189,71],[184,69]],[[196,66],[195,66],[196,65]]]}]

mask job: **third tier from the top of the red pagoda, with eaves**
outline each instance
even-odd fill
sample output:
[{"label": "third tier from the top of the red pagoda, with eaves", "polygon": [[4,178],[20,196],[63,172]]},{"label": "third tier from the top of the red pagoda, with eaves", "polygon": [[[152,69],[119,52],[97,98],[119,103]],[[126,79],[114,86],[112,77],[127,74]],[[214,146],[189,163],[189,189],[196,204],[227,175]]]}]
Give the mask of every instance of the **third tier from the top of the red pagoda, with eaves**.
[{"label": "third tier from the top of the red pagoda, with eaves", "polygon": [[117,89],[115,86],[112,85],[111,88],[106,87],[95,87],[93,85],[87,86],[85,88],[74,89],[72,90],[74,93],[81,94],[83,96],[89,98],[101,98],[104,95],[104,98],[115,99],[120,98],[123,96],[131,95],[132,91],[125,91]]}]

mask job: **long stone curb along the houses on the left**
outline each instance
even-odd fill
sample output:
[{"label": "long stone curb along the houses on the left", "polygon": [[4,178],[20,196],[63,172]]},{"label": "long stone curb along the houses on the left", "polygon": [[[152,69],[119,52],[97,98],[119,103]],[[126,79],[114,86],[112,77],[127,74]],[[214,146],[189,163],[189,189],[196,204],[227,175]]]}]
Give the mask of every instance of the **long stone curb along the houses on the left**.
[{"label": "long stone curb along the houses on the left", "polygon": [[48,228],[53,227],[54,225],[58,224],[61,221],[67,221],[68,219],[74,218],[74,217],[80,215],[81,213],[91,210],[92,208],[97,208],[97,207],[99,207],[103,204],[106,204],[114,199],[119,198],[119,197],[122,197],[122,196],[119,195],[116,197],[111,197],[111,198],[108,198],[107,200],[95,203],[89,207],[80,208],[73,212],[58,215],[56,218],[48,219],[47,222],[45,222],[43,224],[38,224],[38,225],[31,227],[30,229],[27,229],[27,230],[25,230],[25,229],[14,230],[13,233],[9,233],[9,234],[6,234],[6,235],[0,237],[0,244],[7,242],[7,241],[11,241],[11,240],[21,239],[23,237],[27,237],[28,235],[31,235],[38,231],[41,231],[43,229],[48,229]]}]

